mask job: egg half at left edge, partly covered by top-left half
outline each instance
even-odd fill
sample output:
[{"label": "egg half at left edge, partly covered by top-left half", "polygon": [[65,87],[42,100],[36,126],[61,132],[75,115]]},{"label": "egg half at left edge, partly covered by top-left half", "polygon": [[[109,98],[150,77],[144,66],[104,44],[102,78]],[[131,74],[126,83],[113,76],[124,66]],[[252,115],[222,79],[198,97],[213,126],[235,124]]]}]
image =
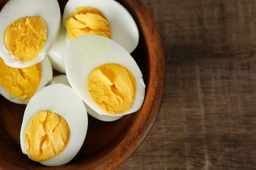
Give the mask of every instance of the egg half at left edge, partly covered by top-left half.
[{"label": "egg half at left edge, partly covered by top-left half", "polygon": [[25,68],[7,66],[0,58],[0,94],[13,103],[28,104],[31,97],[52,80],[52,66],[47,57]]}]

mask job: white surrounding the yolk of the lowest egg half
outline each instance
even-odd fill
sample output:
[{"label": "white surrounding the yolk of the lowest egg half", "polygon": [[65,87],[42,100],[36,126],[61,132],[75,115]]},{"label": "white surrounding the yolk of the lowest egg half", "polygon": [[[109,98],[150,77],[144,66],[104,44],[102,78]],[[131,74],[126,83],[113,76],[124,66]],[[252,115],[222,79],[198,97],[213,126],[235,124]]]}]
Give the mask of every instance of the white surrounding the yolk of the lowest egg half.
[{"label": "white surrounding the yolk of the lowest egg half", "polygon": [[53,84],[36,93],[26,107],[20,130],[20,146],[24,154],[28,155],[23,139],[25,128],[33,115],[41,110],[62,116],[69,125],[70,138],[63,152],[40,163],[46,166],[66,164],[76,156],[84,143],[88,126],[84,103],[72,88],[63,84]]}]

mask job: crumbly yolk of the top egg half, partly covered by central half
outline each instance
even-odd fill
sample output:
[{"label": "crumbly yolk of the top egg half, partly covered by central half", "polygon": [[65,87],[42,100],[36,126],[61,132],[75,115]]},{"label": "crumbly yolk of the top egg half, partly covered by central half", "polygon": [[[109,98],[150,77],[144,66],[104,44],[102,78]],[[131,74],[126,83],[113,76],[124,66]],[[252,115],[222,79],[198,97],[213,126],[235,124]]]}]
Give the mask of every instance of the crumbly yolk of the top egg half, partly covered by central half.
[{"label": "crumbly yolk of the top egg half, partly covered by central half", "polygon": [[96,8],[82,6],[77,8],[66,18],[68,39],[86,34],[96,34],[107,38],[111,37],[107,18]]}]

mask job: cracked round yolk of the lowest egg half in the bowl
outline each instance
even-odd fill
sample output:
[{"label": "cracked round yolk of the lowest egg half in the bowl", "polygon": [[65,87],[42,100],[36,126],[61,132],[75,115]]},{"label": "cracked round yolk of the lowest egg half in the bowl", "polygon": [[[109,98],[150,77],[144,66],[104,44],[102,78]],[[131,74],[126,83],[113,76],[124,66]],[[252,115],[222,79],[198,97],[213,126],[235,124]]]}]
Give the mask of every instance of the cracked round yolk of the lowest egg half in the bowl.
[{"label": "cracked round yolk of the lowest egg half in the bowl", "polygon": [[65,150],[70,129],[60,115],[39,111],[29,120],[23,137],[29,157],[35,161],[44,161]]}]

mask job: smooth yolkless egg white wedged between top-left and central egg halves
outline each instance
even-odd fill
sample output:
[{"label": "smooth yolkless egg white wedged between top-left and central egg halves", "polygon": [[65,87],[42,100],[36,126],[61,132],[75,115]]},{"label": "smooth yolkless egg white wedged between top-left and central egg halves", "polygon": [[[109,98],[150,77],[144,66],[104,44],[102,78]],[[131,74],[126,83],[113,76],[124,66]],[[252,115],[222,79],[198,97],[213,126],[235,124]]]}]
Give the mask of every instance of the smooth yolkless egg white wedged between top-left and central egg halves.
[{"label": "smooth yolkless egg white wedged between top-left and central egg halves", "polygon": [[52,64],[52,68],[60,73],[66,74],[65,71],[65,52],[68,46],[66,39],[66,27],[60,24],[60,31],[58,37],[54,42],[50,52],[48,53],[48,58]]}]

